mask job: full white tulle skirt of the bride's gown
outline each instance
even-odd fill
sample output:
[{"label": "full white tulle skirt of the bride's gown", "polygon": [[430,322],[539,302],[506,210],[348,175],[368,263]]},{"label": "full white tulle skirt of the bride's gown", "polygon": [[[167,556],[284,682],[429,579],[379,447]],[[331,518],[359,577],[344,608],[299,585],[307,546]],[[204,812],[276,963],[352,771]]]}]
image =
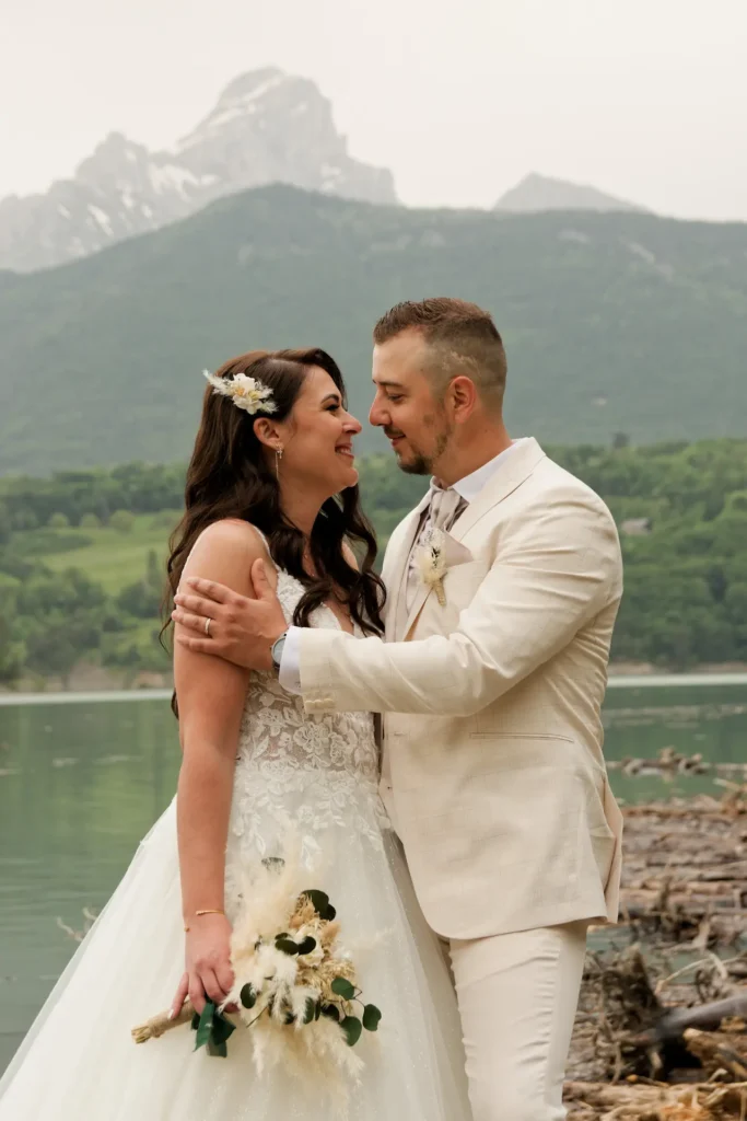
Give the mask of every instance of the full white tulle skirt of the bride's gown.
[{"label": "full white tulle skirt of the bride's gown", "polygon": [[[292,807],[288,807],[291,810]],[[383,1013],[364,1032],[349,1121],[468,1121],[464,1050],[441,947],[423,919],[394,836],[372,843],[372,806],[338,815],[315,842],[318,874],[356,946],[366,999]],[[362,819],[367,827],[361,828]],[[256,822],[254,823],[256,826]],[[261,825],[260,833],[261,833]],[[263,847],[277,844],[267,819]],[[248,859],[241,839],[228,863]],[[228,871],[228,867],[227,867]],[[227,882],[231,882],[228,878]],[[227,909],[230,910],[227,898]],[[366,948],[367,947],[367,948]],[[136,1045],[130,1030],[167,1009],[183,973],[176,804],[141,843],[0,1081],[0,1121],[318,1121],[321,1096],[281,1067],[258,1075],[251,1029],[228,1057],[194,1051],[188,1026]]]}]

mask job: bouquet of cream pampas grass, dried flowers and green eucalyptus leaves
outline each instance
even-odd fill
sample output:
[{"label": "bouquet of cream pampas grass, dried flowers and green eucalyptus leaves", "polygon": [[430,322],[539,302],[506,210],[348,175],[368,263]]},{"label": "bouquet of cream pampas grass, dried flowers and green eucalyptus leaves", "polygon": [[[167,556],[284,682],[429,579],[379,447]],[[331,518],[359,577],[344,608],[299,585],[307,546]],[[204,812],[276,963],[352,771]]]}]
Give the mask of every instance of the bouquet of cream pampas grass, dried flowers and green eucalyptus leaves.
[{"label": "bouquet of cream pampas grass, dried flowers and green eucalyptus leaves", "polygon": [[[233,924],[234,985],[221,1008],[207,1001],[197,1016],[189,1000],[174,1019],[164,1012],[138,1028],[136,1043],[192,1023],[195,1050],[226,1057],[237,1026],[251,1029],[259,1074],[284,1064],[304,1076],[357,1078],[362,1059],[352,1048],[381,1012],[361,1001],[355,965],[338,947],[339,924],[324,891],[297,891],[297,870],[278,858],[248,876]],[[236,1025],[223,1009],[237,1006]]]}]

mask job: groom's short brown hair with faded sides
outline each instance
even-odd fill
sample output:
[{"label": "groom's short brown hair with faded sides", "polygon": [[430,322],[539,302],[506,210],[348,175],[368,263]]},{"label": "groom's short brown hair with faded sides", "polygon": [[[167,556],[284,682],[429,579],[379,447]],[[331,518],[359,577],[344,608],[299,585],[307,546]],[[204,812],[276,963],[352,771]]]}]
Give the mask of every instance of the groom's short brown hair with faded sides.
[{"label": "groom's short brown hair with faded sides", "polygon": [[506,352],[489,312],[464,299],[438,296],[396,304],[374,327],[377,345],[403,331],[419,331],[432,352],[427,373],[446,389],[452,378],[466,373],[491,404],[501,406],[506,388]]}]

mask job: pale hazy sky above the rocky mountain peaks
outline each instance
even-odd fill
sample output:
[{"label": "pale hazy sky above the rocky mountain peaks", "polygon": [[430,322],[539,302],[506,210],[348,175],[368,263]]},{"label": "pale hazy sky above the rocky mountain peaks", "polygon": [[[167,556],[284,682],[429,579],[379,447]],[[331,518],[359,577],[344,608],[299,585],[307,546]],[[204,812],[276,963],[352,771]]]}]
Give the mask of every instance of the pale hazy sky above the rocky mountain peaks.
[{"label": "pale hazy sky above the rocky mountain peaks", "polygon": [[168,147],[279,65],[410,205],[530,170],[747,220],[747,0],[0,0],[0,196],[112,130]]}]

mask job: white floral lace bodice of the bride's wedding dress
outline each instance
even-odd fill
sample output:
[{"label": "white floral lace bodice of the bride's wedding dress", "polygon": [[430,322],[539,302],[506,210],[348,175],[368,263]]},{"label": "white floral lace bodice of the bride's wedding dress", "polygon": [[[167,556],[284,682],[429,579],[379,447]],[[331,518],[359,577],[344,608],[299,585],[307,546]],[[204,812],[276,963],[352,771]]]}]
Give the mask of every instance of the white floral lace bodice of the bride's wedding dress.
[{"label": "white floral lace bodice of the bride's wedding dress", "polygon": [[[278,573],[278,597],[290,624],[304,586]],[[337,628],[317,608],[310,623]],[[371,713],[309,715],[277,674],[252,676],[242,717],[230,828],[231,849],[272,855],[289,828],[312,855],[319,834],[351,827],[381,844],[385,814],[379,798],[379,751]]]}]

